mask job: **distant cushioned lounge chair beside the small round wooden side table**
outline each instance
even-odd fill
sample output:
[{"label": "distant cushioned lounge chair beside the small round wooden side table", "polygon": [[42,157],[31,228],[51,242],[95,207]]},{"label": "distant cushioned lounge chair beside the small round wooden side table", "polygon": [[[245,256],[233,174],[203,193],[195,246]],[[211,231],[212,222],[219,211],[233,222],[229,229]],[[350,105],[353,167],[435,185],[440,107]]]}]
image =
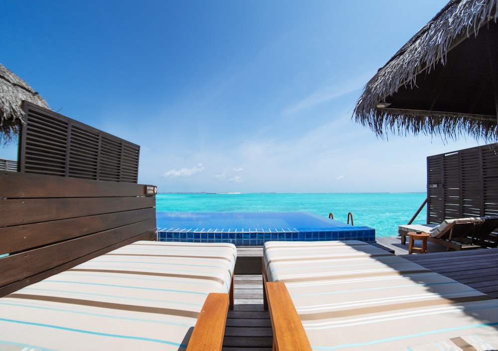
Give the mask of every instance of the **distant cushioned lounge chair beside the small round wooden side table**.
[{"label": "distant cushioned lounge chair beside the small round wooden side table", "polygon": [[399,226],[398,233],[401,236],[401,243],[406,243],[406,235],[409,232],[421,231],[430,234],[428,241],[446,246],[447,249],[470,249],[478,248],[474,244],[473,237],[477,233],[478,227],[484,220],[476,217],[447,219],[439,225],[405,225]]}]

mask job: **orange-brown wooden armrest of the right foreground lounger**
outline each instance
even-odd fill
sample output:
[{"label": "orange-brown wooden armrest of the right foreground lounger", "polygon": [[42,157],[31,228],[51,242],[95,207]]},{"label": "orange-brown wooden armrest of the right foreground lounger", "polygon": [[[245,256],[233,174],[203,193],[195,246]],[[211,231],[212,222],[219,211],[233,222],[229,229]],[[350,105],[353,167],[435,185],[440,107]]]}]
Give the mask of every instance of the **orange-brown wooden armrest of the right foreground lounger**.
[{"label": "orange-brown wooden armrest of the right foreground lounger", "polygon": [[284,283],[267,282],[273,347],[278,351],[311,351],[311,345]]}]

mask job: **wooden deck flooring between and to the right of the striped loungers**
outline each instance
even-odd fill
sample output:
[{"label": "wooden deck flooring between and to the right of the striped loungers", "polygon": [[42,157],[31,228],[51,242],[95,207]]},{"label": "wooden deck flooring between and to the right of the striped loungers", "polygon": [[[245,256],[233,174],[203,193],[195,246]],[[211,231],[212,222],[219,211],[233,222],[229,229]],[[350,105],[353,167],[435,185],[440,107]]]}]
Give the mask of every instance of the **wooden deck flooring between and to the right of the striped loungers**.
[{"label": "wooden deck flooring between and to the right of the striped loungers", "polygon": [[[429,242],[428,253],[408,255],[408,245],[401,245],[397,236],[377,238],[377,243],[434,272],[498,298],[498,248],[441,252],[444,247],[441,250],[441,246],[433,247]],[[238,262],[246,265],[238,270],[254,274],[237,274],[236,268],[235,308],[228,312],[224,351],[271,350],[271,322],[268,312],[263,310],[262,277],[258,274],[261,256],[261,247],[238,248]],[[244,261],[243,257],[250,259]]]}]

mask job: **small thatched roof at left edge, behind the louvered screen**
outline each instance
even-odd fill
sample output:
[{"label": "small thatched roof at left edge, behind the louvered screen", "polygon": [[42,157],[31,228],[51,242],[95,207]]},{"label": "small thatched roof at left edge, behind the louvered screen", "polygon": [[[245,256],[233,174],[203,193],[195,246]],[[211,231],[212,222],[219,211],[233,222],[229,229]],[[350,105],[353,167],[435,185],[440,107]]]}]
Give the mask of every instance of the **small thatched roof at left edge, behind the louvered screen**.
[{"label": "small thatched roof at left edge, behind the louvered screen", "polygon": [[23,100],[48,109],[45,99],[0,64],[0,145],[18,133],[19,122],[23,122],[24,117]]}]

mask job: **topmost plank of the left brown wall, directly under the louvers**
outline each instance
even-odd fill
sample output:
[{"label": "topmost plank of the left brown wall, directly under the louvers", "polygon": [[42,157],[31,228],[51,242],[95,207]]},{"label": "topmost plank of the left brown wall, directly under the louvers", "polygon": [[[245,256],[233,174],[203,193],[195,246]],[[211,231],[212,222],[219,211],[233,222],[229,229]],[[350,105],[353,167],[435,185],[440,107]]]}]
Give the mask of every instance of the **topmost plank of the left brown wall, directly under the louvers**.
[{"label": "topmost plank of the left brown wall, directly under the louvers", "polygon": [[144,196],[145,186],[32,173],[0,173],[0,199]]}]

